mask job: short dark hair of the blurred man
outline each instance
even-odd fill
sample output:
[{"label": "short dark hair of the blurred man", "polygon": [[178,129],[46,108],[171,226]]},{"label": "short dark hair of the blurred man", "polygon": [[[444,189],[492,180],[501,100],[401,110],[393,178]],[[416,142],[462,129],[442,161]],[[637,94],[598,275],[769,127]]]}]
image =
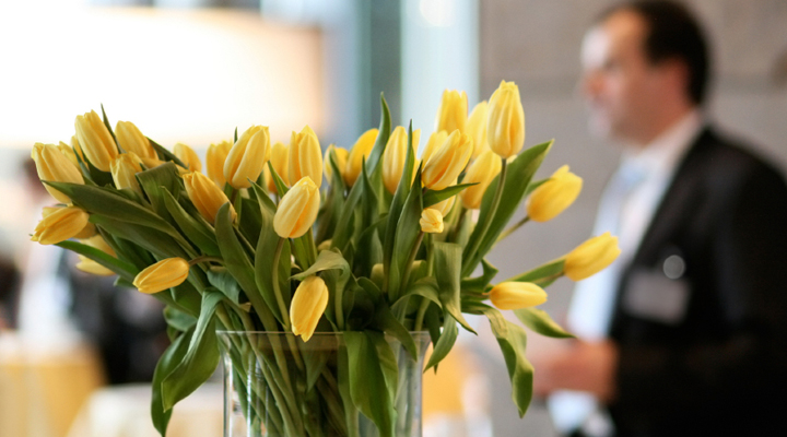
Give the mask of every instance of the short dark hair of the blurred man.
[{"label": "short dark hair of the blurred man", "polygon": [[672,59],[685,63],[688,95],[693,103],[702,105],[710,75],[710,59],[704,32],[694,15],[673,1],[636,0],[607,10],[599,22],[624,10],[642,16],[648,25],[644,51],[650,63]]}]

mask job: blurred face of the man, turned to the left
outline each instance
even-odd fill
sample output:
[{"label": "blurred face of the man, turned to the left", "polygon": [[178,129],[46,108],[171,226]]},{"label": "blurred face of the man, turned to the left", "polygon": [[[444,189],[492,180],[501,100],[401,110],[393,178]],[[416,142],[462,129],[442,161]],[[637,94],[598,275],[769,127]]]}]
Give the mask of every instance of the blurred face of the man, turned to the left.
[{"label": "blurred face of the man, turned to the left", "polygon": [[583,92],[594,132],[635,143],[651,133],[649,113],[663,90],[658,69],[644,52],[646,34],[644,20],[623,10],[585,36]]}]

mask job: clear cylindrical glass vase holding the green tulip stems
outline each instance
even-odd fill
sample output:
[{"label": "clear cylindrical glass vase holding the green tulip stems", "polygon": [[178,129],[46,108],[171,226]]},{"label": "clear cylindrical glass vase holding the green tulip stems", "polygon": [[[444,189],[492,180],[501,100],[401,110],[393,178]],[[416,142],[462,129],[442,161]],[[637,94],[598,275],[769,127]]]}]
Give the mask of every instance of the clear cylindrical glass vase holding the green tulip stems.
[{"label": "clear cylindrical glass vase holding the green tulip stems", "polygon": [[224,437],[421,437],[430,336],[410,335],[220,331]]}]

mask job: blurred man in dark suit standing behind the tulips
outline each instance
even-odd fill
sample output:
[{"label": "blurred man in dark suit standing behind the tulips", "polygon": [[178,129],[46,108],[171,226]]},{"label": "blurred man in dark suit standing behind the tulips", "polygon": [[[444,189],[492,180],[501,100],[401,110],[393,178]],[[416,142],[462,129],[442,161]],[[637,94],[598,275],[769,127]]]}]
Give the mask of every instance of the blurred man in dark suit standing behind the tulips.
[{"label": "blurred man in dark suit standing behind the tulips", "polygon": [[621,257],[578,284],[582,340],[535,357],[573,436],[777,435],[787,388],[787,187],[703,114],[708,55],[681,5],[613,8],[586,35],[592,129],[625,145],[595,234]]}]

